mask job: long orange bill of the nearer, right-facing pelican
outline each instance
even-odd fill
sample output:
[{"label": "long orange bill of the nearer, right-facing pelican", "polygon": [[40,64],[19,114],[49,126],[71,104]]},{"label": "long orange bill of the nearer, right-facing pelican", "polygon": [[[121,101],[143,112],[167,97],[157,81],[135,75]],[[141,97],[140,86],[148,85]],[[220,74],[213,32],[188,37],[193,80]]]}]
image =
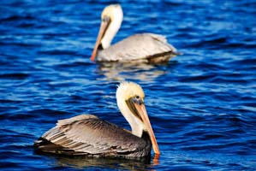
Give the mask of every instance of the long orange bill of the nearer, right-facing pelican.
[{"label": "long orange bill of the nearer, right-facing pelican", "polygon": [[146,107],[144,103],[134,103],[134,108],[138,111],[138,114],[140,115],[140,118],[145,124],[146,131],[149,133],[150,139],[152,141],[152,148],[155,152],[156,155],[160,155],[160,150],[158,148],[158,143],[157,139],[155,137],[155,134],[153,132],[151,123],[149,121],[147,112],[146,112]]}]

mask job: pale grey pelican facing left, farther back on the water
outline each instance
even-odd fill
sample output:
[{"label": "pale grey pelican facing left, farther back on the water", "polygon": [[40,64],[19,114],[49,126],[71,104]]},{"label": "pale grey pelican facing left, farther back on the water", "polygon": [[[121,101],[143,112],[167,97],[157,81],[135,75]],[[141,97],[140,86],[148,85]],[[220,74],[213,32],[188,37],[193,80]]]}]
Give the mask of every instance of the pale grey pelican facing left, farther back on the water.
[{"label": "pale grey pelican facing left, farther back on the water", "polygon": [[92,61],[158,63],[168,62],[170,57],[180,54],[175,47],[167,43],[164,36],[153,33],[134,34],[110,46],[121,24],[122,7],[119,4],[105,7],[101,15],[98,38],[92,51]]}]

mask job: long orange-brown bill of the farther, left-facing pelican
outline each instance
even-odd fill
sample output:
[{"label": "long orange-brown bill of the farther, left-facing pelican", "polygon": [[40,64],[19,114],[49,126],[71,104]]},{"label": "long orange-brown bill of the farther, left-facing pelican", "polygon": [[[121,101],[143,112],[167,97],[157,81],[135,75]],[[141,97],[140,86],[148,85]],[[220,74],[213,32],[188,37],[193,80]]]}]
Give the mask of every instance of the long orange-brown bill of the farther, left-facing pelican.
[{"label": "long orange-brown bill of the farther, left-facing pelican", "polygon": [[98,37],[97,37],[96,43],[95,43],[93,51],[92,51],[92,56],[91,56],[91,61],[92,62],[94,61],[94,58],[97,55],[98,45],[100,44],[101,39],[103,38],[104,33],[106,32],[109,25],[110,25],[110,17],[104,16],[104,18],[103,18],[103,20],[100,24],[100,28],[99,28],[99,31],[98,31]]}]

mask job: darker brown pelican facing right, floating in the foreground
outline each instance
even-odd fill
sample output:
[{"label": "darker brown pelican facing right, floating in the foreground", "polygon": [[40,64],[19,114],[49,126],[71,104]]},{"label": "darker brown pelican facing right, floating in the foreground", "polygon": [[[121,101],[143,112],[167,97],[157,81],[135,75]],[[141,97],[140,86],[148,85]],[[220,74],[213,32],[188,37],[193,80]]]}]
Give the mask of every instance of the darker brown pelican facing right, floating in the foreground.
[{"label": "darker brown pelican facing right, floating in the foreground", "polygon": [[57,121],[57,126],[44,133],[34,146],[55,154],[128,158],[150,156],[152,147],[159,156],[140,85],[122,82],[116,90],[116,102],[132,132],[96,115],[77,115]]}]

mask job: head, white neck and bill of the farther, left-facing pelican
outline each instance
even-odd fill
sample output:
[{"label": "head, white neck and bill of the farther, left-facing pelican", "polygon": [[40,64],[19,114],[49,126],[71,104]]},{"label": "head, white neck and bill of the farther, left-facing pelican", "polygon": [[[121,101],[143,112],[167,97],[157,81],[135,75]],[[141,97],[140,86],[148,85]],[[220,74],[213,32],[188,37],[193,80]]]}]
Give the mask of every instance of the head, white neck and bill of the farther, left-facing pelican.
[{"label": "head, white neck and bill of the farther, left-facing pelican", "polygon": [[97,55],[98,46],[103,49],[110,47],[112,39],[122,24],[122,7],[119,4],[112,4],[104,8],[101,14],[101,24],[98,31],[98,38],[94,45],[91,60],[94,61]]}]

